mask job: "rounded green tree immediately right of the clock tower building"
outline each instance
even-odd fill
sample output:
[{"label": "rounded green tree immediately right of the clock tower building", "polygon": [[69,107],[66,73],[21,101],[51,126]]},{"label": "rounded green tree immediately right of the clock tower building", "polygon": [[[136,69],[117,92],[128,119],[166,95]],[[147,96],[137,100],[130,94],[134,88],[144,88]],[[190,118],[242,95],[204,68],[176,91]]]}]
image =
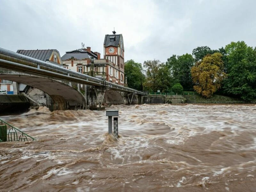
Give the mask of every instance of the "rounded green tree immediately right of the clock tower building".
[{"label": "rounded green tree immediately right of the clock tower building", "polygon": [[128,60],[124,65],[124,73],[127,77],[128,87],[136,90],[142,90],[142,83],[145,80],[145,76],[142,73],[141,63],[136,63],[134,60]]}]

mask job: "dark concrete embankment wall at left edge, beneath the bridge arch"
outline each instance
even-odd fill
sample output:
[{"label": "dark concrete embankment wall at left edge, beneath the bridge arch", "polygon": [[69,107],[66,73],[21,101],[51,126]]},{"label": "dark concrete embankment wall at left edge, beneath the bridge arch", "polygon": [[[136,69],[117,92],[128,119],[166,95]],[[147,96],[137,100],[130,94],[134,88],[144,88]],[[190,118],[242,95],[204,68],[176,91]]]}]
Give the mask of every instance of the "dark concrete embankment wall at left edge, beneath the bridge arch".
[{"label": "dark concrete embankment wall at left edge, beneath the bridge arch", "polygon": [[30,103],[23,95],[0,95],[0,115],[28,111]]}]

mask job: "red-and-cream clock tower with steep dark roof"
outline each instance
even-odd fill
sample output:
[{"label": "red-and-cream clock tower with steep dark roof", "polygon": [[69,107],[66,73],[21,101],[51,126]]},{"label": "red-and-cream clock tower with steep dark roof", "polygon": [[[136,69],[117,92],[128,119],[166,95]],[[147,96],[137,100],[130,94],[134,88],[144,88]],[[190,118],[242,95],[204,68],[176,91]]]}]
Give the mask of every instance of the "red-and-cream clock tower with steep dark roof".
[{"label": "red-and-cream clock tower with steep dark roof", "polygon": [[104,59],[108,59],[124,72],[124,40],[122,34],[105,35]]}]

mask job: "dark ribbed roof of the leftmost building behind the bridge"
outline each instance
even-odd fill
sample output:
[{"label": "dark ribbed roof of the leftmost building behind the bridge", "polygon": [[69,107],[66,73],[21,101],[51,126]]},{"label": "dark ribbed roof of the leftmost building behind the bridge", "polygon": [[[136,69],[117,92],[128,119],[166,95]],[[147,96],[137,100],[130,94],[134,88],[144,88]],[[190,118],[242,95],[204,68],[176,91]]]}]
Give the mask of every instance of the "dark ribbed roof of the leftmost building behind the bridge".
[{"label": "dark ribbed roof of the leftmost building behind the bridge", "polygon": [[18,50],[17,53],[45,62],[46,60],[49,60],[53,51],[58,52],[56,49],[48,49],[48,50]]}]

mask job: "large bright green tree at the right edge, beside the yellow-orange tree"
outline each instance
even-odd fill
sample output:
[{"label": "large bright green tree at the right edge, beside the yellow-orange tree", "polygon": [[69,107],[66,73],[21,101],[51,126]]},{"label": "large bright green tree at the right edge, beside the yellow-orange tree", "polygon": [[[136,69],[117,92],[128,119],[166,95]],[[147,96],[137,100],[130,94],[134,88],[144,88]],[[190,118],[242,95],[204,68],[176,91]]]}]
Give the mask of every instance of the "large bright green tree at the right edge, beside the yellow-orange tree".
[{"label": "large bright green tree at the right edge, beside the yellow-orange tree", "polygon": [[224,92],[252,100],[256,97],[256,48],[244,41],[231,42],[225,50],[228,58],[228,78],[223,82]]}]

